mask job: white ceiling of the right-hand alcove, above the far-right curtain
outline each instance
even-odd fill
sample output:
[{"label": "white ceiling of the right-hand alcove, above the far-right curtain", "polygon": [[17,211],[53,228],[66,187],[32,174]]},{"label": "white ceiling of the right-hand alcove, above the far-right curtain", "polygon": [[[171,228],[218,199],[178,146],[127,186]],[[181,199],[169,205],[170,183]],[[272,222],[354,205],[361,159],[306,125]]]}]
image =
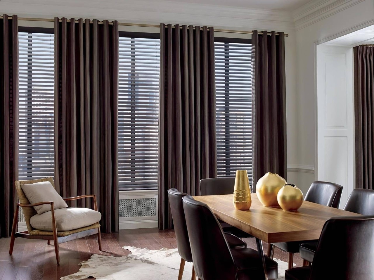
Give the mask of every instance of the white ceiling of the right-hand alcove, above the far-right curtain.
[{"label": "white ceiling of the right-hand alcove, above the far-right curtain", "polygon": [[331,40],[327,45],[354,47],[371,43],[374,43],[374,25]]}]

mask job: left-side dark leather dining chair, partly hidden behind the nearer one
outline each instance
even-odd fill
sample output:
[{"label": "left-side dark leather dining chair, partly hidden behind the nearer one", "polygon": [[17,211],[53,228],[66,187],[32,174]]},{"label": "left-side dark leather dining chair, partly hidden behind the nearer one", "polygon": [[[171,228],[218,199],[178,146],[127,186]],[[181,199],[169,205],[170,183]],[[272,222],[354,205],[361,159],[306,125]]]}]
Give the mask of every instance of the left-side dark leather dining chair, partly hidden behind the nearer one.
[{"label": "left-side dark leather dining chair, partly hidden behind the nearer one", "polygon": [[[179,192],[177,189],[168,190],[171,216],[172,216],[173,223],[174,223],[175,237],[177,239],[177,248],[178,248],[178,253],[181,256],[181,264],[180,264],[180,269],[179,269],[178,280],[182,279],[184,264],[186,263],[186,261],[192,262],[190,240],[188,239],[186,218],[184,217],[184,210],[183,210],[183,203],[182,203],[182,198],[185,197],[186,195],[187,194],[183,192]],[[241,240],[240,238],[232,234],[226,234],[226,238],[230,244],[230,247],[233,247],[233,248],[246,248],[247,247],[247,244],[243,240]],[[194,277],[194,274],[195,274],[194,268],[192,267],[192,279],[196,279],[196,276]]]}]

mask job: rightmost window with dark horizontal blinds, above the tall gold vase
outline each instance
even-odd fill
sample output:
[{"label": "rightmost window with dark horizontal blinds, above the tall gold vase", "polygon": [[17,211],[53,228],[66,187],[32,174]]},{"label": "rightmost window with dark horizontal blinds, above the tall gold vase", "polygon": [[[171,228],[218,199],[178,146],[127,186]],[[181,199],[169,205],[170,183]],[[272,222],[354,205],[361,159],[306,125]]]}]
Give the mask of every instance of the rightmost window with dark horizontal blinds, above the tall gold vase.
[{"label": "rightmost window with dark horizontal blinds, above the tall gold vase", "polygon": [[218,177],[252,177],[252,71],[249,39],[215,38]]}]

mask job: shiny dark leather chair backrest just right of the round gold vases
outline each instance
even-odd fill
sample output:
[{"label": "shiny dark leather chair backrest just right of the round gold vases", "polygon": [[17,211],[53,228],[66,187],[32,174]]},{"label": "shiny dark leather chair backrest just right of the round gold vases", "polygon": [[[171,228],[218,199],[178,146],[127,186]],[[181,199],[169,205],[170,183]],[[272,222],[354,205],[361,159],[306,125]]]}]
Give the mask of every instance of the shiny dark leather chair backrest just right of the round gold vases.
[{"label": "shiny dark leather chair backrest just right of the round gold vases", "polygon": [[329,182],[316,181],[310,185],[304,200],[338,208],[343,187]]}]

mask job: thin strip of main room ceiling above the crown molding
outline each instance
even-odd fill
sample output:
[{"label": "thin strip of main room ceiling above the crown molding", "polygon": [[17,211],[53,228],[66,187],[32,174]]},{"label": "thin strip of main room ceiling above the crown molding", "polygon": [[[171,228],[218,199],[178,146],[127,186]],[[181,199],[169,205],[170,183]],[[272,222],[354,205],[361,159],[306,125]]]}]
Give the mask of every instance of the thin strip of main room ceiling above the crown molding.
[{"label": "thin strip of main room ceiling above the crown molding", "polygon": [[246,9],[293,11],[311,0],[172,0],[174,2],[232,6]]}]

